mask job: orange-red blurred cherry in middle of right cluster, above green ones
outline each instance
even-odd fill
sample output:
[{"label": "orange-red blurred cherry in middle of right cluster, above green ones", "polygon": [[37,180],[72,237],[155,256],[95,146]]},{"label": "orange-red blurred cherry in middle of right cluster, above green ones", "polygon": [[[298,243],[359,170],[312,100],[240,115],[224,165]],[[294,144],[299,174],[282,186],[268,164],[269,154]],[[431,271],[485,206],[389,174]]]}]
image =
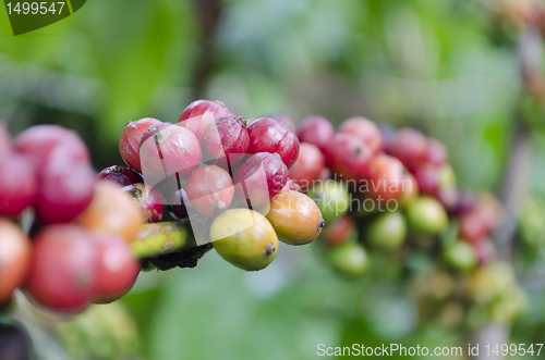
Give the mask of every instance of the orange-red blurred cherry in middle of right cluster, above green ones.
[{"label": "orange-red blurred cherry in middle of right cluster, above green ones", "polygon": [[403,164],[393,157],[380,154],[372,159],[368,170],[368,198],[380,201],[399,199],[403,195],[405,173]]}]

